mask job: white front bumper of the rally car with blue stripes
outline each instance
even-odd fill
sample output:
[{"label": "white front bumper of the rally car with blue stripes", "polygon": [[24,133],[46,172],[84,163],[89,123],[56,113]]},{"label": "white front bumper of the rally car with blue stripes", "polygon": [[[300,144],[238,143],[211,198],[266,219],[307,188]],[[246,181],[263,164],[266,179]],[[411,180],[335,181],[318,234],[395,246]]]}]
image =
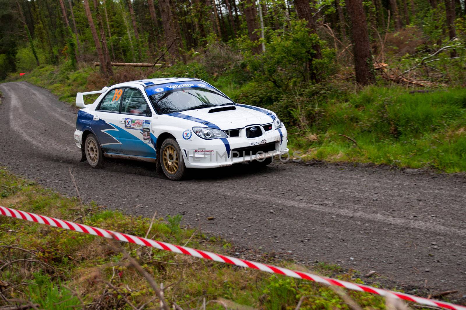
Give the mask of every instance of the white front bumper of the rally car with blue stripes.
[{"label": "white front bumper of the rally car with blue stripes", "polygon": [[234,163],[262,160],[288,152],[288,134],[284,126],[259,138],[230,137],[192,141],[178,139],[187,168],[217,168]]}]

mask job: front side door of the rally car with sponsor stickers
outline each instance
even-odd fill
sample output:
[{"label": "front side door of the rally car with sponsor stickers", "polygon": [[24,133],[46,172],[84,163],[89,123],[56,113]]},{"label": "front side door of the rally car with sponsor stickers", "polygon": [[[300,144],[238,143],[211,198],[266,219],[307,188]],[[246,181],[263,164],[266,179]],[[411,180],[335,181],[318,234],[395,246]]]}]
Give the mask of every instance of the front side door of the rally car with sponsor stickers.
[{"label": "front side door of the rally car with sponsor stickers", "polygon": [[142,92],[125,88],[121,103],[119,126],[123,154],[155,158],[151,140],[152,113]]}]

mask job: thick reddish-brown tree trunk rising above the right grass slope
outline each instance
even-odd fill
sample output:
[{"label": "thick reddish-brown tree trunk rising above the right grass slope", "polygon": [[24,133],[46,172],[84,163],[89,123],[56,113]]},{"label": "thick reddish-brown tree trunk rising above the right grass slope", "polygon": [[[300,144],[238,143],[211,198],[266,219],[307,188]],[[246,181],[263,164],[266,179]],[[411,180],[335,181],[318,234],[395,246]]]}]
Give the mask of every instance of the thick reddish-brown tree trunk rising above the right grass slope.
[{"label": "thick reddish-brown tree trunk rising above the right grass slope", "polygon": [[362,0],[345,0],[351,20],[351,39],[355,59],[356,82],[367,85],[374,81],[374,67],[370,56],[369,32]]}]

